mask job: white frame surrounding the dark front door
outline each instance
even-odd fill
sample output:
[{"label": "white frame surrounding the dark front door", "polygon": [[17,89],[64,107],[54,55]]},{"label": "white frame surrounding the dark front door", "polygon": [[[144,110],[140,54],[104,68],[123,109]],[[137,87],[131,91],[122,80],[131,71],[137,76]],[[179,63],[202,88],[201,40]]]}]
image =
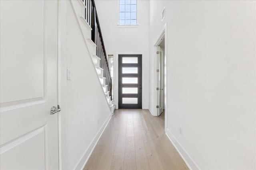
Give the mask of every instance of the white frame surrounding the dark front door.
[{"label": "white frame surrounding the dark front door", "polygon": [[132,51],[132,52],[116,52],[114,55],[113,61],[113,69],[114,69],[114,74],[113,74],[113,93],[114,93],[114,104],[116,105],[116,109],[118,109],[118,56],[119,55],[141,55],[142,57],[142,109],[148,109],[148,103],[144,101],[145,98],[147,98],[145,95],[147,92],[145,92],[146,85],[145,82],[145,76],[143,75],[145,73],[146,67],[144,66],[145,63],[145,53],[143,51]]}]

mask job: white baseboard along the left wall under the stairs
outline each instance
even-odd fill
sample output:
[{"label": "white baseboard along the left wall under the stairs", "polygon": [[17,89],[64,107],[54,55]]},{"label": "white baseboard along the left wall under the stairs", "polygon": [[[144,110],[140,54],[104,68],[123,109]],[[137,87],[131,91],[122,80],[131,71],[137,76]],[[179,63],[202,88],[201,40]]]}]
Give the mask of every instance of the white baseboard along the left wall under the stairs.
[{"label": "white baseboard along the left wall under the stairs", "polygon": [[104,130],[106,129],[110,119],[112,117],[112,114],[110,114],[106,121],[103,123],[103,125],[100,127],[100,130],[98,131],[98,133],[96,134],[96,136],[94,137],[94,139],[92,140],[92,142],[90,143],[89,147],[86,149],[84,155],[82,156],[82,158],[80,159],[80,161],[78,162],[77,166],[76,166],[76,170],[82,170],[85,166],[85,164],[87,163],[87,161],[89,160],[92,151],[94,150],[94,148],[96,147],[102,133],[104,132]]}]

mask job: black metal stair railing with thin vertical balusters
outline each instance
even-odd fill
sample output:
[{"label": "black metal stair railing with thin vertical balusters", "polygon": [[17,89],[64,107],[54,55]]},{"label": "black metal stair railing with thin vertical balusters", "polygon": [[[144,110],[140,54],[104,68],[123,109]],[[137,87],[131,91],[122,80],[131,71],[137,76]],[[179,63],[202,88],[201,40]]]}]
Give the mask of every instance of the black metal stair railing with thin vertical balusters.
[{"label": "black metal stair railing with thin vertical balusters", "polygon": [[110,99],[112,100],[112,78],[110,75],[110,69],[108,64],[108,58],[106,55],[106,49],[102,38],[100,29],[100,23],[98,20],[97,10],[94,0],[82,0],[86,6],[85,20],[92,28],[92,41],[97,45],[96,55],[100,58],[100,68],[103,69],[103,77],[106,78],[106,85],[108,85],[108,91]]}]

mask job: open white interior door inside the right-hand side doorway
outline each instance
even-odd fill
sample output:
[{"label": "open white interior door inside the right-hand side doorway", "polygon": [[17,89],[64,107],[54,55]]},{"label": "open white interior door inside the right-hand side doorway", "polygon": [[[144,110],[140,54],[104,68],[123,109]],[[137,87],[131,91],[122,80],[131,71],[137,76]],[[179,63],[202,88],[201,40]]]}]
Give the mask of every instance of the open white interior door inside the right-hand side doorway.
[{"label": "open white interior door inside the right-hand side doorway", "polygon": [[161,115],[164,108],[164,51],[158,47],[158,116]]}]

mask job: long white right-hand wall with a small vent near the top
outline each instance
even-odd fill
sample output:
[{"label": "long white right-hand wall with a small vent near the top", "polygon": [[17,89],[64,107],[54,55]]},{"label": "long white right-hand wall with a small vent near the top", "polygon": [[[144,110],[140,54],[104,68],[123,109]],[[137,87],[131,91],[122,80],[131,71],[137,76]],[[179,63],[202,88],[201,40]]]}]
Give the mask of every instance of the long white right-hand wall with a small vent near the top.
[{"label": "long white right-hand wall with a small vent near the top", "polygon": [[150,67],[165,23],[167,134],[192,169],[255,170],[256,2],[150,1]]}]

